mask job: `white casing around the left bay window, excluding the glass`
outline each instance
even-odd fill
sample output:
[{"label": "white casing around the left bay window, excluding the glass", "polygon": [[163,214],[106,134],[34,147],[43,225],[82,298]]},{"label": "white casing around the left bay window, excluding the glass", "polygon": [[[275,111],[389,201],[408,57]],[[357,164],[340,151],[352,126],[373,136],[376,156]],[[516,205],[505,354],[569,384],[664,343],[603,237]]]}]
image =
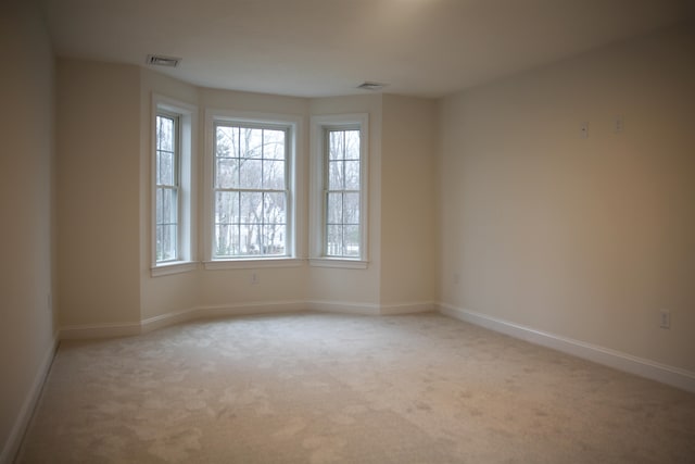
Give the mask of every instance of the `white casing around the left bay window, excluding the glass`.
[{"label": "white casing around the left bay window, excluding the glass", "polygon": [[[156,261],[156,116],[163,113],[178,121],[178,259],[174,261]],[[161,95],[152,96],[151,134],[151,267],[153,277],[193,271],[195,261],[195,212],[194,204],[194,163],[195,127],[198,109]]]}]

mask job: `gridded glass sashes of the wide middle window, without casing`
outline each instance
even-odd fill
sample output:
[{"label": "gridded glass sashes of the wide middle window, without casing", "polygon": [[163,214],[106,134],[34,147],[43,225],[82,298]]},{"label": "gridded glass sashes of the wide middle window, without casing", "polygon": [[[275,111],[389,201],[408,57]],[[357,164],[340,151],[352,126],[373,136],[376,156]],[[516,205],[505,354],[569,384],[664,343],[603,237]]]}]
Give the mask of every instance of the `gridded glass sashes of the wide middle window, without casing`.
[{"label": "gridded glass sashes of the wide middle window, without casing", "polygon": [[216,122],[212,258],[281,258],[288,246],[287,126]]}]

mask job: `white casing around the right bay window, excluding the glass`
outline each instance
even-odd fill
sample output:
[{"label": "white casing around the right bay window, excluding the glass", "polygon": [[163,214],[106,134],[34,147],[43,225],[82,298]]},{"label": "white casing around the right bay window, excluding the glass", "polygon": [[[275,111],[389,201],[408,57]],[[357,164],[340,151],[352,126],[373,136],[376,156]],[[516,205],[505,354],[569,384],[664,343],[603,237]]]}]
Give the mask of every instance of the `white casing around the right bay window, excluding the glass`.
[{"label": "white casing around the right bay window, excluding the glass", "polygon": [[[359,256],[327,256],[326,243],[326,133],[327,129],[359,130]],[[320,267],[367,268],[369,265],[368,240],[368,186],[369,186],[369,115],[330,114],[312,116],[311,126],[311,186],[309,186],[309,265]]]}]

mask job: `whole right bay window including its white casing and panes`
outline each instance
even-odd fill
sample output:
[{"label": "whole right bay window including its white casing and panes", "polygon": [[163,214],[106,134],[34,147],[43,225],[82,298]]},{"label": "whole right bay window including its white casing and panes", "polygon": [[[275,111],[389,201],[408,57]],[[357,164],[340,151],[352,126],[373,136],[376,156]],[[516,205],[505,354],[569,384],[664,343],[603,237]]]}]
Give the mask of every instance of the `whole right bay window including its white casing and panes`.
[{"label": "whole right bay window including its white casing and panes", "polygon": [[312,264],[366,265],[367,126],[366,114],[312,118]]}]

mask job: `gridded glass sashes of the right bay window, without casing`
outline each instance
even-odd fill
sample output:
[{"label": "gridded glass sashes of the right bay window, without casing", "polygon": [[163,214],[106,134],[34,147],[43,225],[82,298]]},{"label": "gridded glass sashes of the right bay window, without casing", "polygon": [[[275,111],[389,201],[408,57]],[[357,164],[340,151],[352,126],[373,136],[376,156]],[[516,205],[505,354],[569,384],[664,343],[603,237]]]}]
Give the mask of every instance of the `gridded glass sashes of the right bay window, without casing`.
[{"label": "gridded glass sashes of the right bay window, without casing", "polygon": [[359,138],[358,127],[325,129],[323,251],[327,258],[362,254]]}]

